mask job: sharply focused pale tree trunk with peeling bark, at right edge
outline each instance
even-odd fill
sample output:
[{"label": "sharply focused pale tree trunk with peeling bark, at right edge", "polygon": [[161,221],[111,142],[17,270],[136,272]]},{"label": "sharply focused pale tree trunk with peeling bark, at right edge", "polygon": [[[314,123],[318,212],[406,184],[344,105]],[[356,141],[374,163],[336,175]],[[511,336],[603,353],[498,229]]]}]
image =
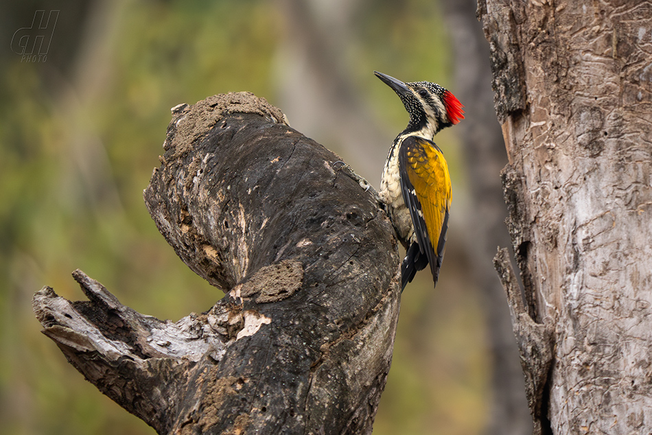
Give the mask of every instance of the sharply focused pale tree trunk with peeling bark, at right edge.
[{"label": "sharply focused pale tree trunk with peeling bark, at right edge", "polygon": [[652,3],[485,0],[536,434],[652,427]]}]

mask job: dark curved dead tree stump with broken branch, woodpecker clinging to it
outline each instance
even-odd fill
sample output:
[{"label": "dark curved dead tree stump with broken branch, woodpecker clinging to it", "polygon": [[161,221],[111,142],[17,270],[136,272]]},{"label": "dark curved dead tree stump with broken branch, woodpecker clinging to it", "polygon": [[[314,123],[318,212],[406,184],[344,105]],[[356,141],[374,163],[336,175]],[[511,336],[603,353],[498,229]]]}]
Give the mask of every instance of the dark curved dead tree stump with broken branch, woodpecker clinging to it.
[{"label": "dark curved dead tree stump with broken branch, woodpecker clinging to it", "polygon": [[[145,202],[187,265],[227,292],[178,322],[45,287],[44,333],[159,434],[371,433],[391,362],[391,224],[338,156],[249,93],[173,109]],[[183,289],[180,289],[183,292]]]}]

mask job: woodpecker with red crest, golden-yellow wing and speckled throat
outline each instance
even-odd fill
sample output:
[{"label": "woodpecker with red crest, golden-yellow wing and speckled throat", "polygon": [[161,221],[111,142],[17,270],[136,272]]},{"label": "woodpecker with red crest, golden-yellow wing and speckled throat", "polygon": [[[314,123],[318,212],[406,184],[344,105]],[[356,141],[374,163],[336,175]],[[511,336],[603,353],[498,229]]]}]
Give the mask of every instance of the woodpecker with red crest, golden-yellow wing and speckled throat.
[{"label": "woodpecker with red crest, golden-yellow wing and speckled throat", "polygon": [[464,118],[464,106],[439,84],[404,83],[378,71],[373,73],[397,93],[410,115],[408,126],[389,149],[378,193],[407,250],[401,266],[401,292],[428,263],[436,285],[446,243],[451,188],[443,152],[432,139],[441,129]]}]

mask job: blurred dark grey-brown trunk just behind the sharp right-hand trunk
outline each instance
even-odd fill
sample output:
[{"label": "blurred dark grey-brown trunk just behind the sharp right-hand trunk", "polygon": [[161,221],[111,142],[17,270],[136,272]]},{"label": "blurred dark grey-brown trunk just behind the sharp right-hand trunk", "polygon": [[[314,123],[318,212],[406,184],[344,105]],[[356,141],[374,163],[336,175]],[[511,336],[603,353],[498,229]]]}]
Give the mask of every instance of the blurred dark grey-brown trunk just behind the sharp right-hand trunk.
[{"label": "blurred dark grey-brown trunk just behind the sharp right-hand trunk", "polygon": [[[471,192],[465,230],[471,271],[482,292],[491,357],[491,400],[486,435],[524,435],[532,430],[523,373],[509,309],[491,259],[509,243],[504,222],[500,169],[507,163],[500,125],[493,111],[489,46],[476,19],[475,0],[444,0],[455,67],[455,95],[465,104],[464,128],[456,130],[464,150]],[[458,215],[459,216],[459,215]],[[461,218],[465,218],[461,216]]]}]

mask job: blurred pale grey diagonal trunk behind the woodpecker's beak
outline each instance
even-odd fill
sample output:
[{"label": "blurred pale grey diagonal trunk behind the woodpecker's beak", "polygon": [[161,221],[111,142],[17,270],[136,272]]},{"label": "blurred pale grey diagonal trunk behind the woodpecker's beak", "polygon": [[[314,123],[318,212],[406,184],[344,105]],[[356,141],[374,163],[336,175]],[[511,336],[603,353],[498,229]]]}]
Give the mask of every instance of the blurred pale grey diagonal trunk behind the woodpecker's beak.
[{"label": "blurred pale grey diagonal trunk behind the woodpecker's beak", "polygon": [[[355,20],[362,3],[277,1],[285,23],[277,52],[279,106],[292,126],[329,143],[358,174],[376,180],[392,137],[369,115],[351,67],[360,49]],[[375,80],[371,72],[368,80]]]}]

